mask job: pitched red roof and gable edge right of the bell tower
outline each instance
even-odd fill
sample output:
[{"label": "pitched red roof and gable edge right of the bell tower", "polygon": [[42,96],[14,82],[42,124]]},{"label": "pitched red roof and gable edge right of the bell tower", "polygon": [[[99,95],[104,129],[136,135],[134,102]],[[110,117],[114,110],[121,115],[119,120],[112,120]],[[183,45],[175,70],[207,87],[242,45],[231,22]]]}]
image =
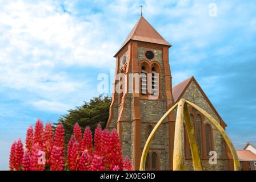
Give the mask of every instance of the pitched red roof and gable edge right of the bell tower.
[{"label": "pitched red roof and gable edge right of the bell tower", "polygon": [[189,87],[189,85],[191,84],[192,81],[194,81],[194,83],[197,86],[198,90],[202,93],[203,97],[205,97],[205,100],[208,102],[210,107],[213,109],[214,113],[217,115],[217,117],[219,118],[221,123],[223,123],[225,126],[227,126],[227,124],[223,121],[223,119],[221,118],[221,116],[219,115],[219,113],[217,112],[215,107],[213,106],[213,104],[211,104],[211,101],[206,96],[205,92],[203,92],[203,89],[198,84],[197,80],[195,80],[194,76],[192,76],[190,78],[187,78],[186,80],[182,81],[181,83],[179,83],[178,85],[173,87],[173,99],[174,99],[174,102],[178,102],[179,100],[181,100],[181,97],[183,96],[183,94],[185,93],[185,91],[187,90],[187,88]]}]

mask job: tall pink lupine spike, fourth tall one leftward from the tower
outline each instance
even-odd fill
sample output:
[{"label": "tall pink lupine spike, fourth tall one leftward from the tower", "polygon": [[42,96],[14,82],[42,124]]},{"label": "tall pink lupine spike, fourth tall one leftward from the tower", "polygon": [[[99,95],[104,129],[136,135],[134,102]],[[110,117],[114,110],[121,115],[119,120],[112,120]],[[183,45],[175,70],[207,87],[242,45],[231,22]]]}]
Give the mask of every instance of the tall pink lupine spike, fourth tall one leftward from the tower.
[{"label": "tall pink lupine spike, fourth tall one leftward from the tower", "polygon": [[87,150],[88,154],[93,156],[93,135],[91,134],[90,127],[86,127],[85,133],[83,133],[81,151],[84,150]]}]

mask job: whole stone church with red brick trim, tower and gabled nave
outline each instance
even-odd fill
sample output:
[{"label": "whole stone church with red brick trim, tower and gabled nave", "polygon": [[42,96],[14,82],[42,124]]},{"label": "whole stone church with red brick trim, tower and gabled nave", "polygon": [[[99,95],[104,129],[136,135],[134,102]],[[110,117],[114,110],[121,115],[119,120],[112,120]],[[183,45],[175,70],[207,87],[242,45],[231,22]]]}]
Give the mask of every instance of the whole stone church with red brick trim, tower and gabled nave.
[{"label": "whole stone church with red brick trim, tower and gabled nave", "polygon": [[[117,129],[123,155],[130,157],[136,170],[139,169],[145,142],[159,119],[181,98],[197,104],[211,114],[225,129],[226,123],[211,104],[201,86],[192,76],[172,86],[169,64],[169,48],[161,35],[141,16],[129,36],[115,54],[116,69],[113,98],[108,129]],[[171,56],[171,55],[170,55]],[[118,79],[123,73],[122,84]],[[139,92],[135,92],[134,79],[130,74],[141,74]],[[151,80],[145,75],[151,73]],[[158,79],[156,79],[156,76]],[[133,82],[134,81],[134,82]],[[149,92],[148,82],[153,92]],[[132,86],[133,89],[129,89]],[[117,90],[121,90],[117,92]],[[128,90],[130,92],[128,92]],[[155,94],[155,90],[158,90]],[[154,96],[154,97],[152,97]],[[204,170],[233,170],[233,159],[221,134],[199,111],[189,106]],[[150,146],[146,159],[147,170],[172,170],[174,147],[175,112],[163,122]],[[190,146],[185,132],[186,167],[193,170]],[[210,151],[217,154],[217,164],[210,164]]]}]

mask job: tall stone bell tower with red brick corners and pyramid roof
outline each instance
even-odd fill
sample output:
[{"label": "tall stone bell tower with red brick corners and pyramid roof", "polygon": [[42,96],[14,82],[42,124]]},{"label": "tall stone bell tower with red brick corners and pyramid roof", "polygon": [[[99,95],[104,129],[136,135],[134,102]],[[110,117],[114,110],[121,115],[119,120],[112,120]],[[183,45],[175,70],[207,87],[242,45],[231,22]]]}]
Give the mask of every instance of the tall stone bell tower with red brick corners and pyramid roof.
[{"label": "tall stone bell tower with red brick corners and pyramid roof", "polygon": [[[173,105],[169,48],[141,16],[115,54],[116,69],[108,129],[117,129],[123,155],[139,169],[145,142]],[[173,163],[174,115],[163,122],[150,146],[146,169],[170,170]]]}]

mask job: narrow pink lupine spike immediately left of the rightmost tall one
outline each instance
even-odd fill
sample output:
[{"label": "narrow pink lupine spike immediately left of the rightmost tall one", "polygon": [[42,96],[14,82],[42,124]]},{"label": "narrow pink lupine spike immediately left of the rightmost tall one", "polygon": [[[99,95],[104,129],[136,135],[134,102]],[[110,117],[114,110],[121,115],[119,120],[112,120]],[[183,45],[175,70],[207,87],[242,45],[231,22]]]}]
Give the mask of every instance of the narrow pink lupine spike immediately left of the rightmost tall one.
[{"label": "narrow pink lupine spike immediately left of the rightmost tall one", "polygon": [[109,160],[111,152],[111,144],[110,144],[110,134],[109,130],[103,130],[101,132],[101,157],[103,164],[107,167],[107,169],[111,168],[111,160]]}]

